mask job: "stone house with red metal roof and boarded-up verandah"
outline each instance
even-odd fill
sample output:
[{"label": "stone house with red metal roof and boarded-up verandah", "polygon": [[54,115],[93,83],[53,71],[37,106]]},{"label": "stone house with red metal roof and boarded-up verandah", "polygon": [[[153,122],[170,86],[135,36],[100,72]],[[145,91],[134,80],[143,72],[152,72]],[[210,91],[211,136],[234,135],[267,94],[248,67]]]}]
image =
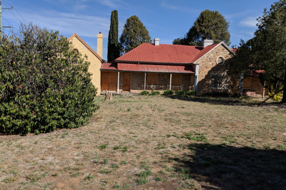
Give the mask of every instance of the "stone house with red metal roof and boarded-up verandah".
[{"label": "stone house with red metal roof and boarded-up verandah", "polygon": [[[142,90],[239,91],[239,78],[230,80],[225,61],[234,52],[223,41],[203,40],[203,46],[143,43],[112,63],[101,65],[101,90],[140,92]],[[242,82],[240,82],[242,83]]]}]

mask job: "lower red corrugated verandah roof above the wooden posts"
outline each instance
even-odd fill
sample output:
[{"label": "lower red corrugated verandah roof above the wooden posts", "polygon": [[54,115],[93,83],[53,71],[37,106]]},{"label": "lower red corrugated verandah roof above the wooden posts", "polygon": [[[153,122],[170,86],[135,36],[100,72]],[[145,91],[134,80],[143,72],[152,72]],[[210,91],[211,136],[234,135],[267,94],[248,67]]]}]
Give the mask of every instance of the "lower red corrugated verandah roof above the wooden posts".
[{"label": "lower red corrugated verandah roof above the wooden posts", "polygon": [[195,73],[191,65],[179,66],[179,65],[118,63],[118,70],[138,71],[138,72]]}]

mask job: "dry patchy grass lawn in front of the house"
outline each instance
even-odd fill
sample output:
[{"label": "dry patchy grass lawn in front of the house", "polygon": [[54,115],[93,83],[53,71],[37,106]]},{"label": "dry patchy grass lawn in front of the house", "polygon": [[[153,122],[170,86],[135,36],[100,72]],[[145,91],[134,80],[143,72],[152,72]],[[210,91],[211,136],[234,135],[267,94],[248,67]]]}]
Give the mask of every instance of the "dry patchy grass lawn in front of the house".
[{"label": "dry patchy grass lawn in front of the house", "polygon": [[[251,98],[96,97],[90,123],[0,135],[0,189],[285,189],[286,108]],[[261,100],[260,100],[261,101]]]}]

